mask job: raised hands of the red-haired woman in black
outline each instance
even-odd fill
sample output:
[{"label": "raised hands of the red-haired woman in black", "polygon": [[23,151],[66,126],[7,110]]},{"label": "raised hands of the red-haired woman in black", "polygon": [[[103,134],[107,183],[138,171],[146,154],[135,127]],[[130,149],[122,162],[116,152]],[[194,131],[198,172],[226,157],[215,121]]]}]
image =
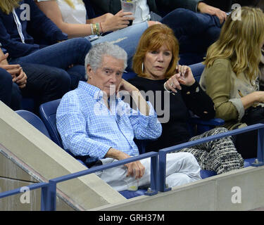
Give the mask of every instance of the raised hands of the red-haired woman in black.
[{"label": "raised hands of the red-haired woman in black", "polygon": [[184,84],[186,86],[191,86],[194,84],[195,79],[192,75],[191,68],[187,65],[177,65],[176,74],[170,77],[167,82],[165,82],[165,88],[168,91],[173,91],[177,93],[177,89],[181,90],[182,87],[180,84]]}]

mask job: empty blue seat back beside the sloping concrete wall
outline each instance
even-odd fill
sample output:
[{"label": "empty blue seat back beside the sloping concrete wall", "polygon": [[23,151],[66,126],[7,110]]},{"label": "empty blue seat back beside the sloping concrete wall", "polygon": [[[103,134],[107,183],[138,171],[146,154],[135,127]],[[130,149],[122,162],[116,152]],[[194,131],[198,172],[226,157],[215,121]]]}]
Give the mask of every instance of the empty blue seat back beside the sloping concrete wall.
[{"label": "empty blue seat back beside the sloping concrete wall", "polygon": [[44,122],[37,115],[34,115],[34,113],[31,113],[27,110],[17,110],[15,111],[15,113],[18,113],[20,117],[23,117],[25,120],[27,120],[27,122],[32,124],[32,126],[38,129],[39,131],[41,131],[42,134],[45,134],[49,139],[51,138]]}]

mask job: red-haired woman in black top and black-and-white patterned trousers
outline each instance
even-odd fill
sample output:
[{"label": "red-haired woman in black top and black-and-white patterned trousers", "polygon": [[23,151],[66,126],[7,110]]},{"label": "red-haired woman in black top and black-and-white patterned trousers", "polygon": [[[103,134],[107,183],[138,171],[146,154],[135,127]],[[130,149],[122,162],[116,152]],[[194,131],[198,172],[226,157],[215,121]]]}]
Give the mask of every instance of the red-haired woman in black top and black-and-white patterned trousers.
[{"label": "red-haired woman in black top and black-and-white patterned trousers", "polygon": [[[142,34],[134,55],[133,68],[137,77],[128,82],[144,93],[154,92],[152,98],[146,98],[151,99],[149,101],[163,128],[157,140],[147,143],[147,152],[228,131],[220,127],[199,136],[190,136],[189,110],[203,120],[209,120],[215,117],[215,109],[213,101],[195,81],[191,69],[177,65],[178,53],[179,44],[173,31],[166,25],[153,25]],[[244,160],[230,136],[181,151],[193,154],[201,169],[213,170],[217,174],[244,167]]]}]

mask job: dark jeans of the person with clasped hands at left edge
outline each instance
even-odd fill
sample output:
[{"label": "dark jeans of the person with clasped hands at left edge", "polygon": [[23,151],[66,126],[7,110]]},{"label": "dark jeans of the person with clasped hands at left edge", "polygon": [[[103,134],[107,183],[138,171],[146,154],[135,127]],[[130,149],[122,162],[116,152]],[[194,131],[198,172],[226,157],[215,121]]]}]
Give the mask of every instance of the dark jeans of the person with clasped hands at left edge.
[{"label": "dark jeans of the person with clasped hands at left edge", "polygon": [[62,98],[70,91],[70,79],[65,70],[40,64],[20,65],[27,75],[27,84],[23,89],[12,82],[12,77],[6,70],[0,68],[0,100],[13,110],[22,108],[23,97],[33,98],[34,113],[37,113],[40,104]]}]

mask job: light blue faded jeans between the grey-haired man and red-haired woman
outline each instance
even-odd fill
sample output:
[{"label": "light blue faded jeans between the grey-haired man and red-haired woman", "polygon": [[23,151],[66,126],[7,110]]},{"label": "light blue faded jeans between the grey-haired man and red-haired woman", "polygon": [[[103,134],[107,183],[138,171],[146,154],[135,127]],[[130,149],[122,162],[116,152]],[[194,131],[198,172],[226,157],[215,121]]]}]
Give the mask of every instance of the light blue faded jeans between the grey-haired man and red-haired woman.
[{"label": "light blue faded jeans between the grey-haired man and red-haired woman", "polygon": [[132,70],[132,58],[137,49],[137,44],[142,36],[143,32],[148,28],[148,23],[139,23],[124,29],[111,32],[105,36],[91,41],[92,45],[109,41],[113,44],[117,44],[127,52],[127,70]]}]

